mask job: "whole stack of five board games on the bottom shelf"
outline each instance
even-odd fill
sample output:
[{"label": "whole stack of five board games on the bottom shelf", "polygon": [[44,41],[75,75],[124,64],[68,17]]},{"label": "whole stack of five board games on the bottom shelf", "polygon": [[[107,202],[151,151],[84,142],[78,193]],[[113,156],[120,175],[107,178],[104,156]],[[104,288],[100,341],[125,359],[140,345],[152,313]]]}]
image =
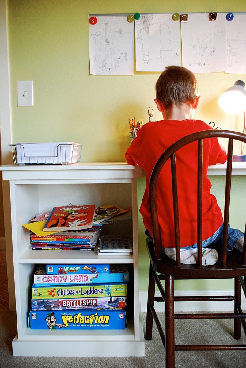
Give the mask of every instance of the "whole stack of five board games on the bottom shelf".
[{"label": "whole stack of five board games on the bottom shelf", "polygon": [[39,265],[31,329],[125,329],[125,265]]}]

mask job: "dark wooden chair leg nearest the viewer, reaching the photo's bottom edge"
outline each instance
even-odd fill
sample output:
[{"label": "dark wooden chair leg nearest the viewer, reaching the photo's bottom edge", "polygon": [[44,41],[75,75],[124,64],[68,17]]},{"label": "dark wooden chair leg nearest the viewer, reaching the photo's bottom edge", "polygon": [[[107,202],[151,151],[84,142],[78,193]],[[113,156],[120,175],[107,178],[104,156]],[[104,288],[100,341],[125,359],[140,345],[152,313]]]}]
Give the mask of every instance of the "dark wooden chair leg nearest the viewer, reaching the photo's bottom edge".
[{"label": "dark wooden chair leg nearest the viewer, reaching the photo's bottom edge", "polygon": [[174,368],[174,277],[165,276],[166,368]]}]

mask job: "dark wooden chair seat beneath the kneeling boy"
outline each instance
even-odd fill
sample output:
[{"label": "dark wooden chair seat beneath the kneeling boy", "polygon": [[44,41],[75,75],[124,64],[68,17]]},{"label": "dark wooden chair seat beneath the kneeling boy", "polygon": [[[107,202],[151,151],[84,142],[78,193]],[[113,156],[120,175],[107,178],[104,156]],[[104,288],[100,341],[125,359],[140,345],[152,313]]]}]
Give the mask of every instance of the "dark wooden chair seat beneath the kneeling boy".
[{"label": "dark wooden chair seat beneath the kneeling boy", "polygon": [[181,278],[185,277],[185,279],[228,279],[229,277],[246,276],[246,265],[242,265],[242,253],[237,250],[232,250],[227,253],[227,266],[224,268],[221,268],[221,251],[219,250],[217,250],[218,261],[215,265],[202,266],[201,268],[197,268],[197,265],[184,264],[178,267],[176,262],[165,255],[164,252],[162,252],[162,259],[157,260],[154,253],[153,241],[147,242],[147,250],[153,269],[165,275],[173,275],[174,277]]}]

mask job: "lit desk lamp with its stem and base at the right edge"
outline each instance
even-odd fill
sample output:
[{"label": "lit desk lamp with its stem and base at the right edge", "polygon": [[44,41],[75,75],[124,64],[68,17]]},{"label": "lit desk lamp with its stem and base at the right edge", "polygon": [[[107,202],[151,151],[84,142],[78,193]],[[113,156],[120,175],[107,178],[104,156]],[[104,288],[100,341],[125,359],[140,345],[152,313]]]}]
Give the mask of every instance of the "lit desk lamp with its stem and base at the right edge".
[{"label": "lit desk lamp with its stem and base at the right edge", "polygon": [[[219,106],[229,114],[241,114],[244,116],[243,133],[246,134],[245,114],[246,114],[246,91],[245,82],[236,81],[219,98]],[[244,142],[241,145],[241,155],[233,155],[233,161],[246,161],[244,153]]]}]

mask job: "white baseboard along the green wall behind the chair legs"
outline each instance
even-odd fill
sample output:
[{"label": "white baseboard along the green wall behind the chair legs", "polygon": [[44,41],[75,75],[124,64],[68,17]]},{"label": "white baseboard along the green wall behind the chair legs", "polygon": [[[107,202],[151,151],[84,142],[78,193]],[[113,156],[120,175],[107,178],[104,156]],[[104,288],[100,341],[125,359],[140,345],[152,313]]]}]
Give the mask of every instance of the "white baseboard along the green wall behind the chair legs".
[{"label": "white baseboard along the green wall behind the chair legs", "polygon": [[[192,291],[175,291],[175,295],[177,296],[212,296],[217,294],[221,295],[234,295],[233,290],[192,290]],[[160,292],[156,291],[155,296],[160,296]],[[146,312],[147,310],[147,291],[139,291],[139,301],[141,304],[142,312]],[[156,302],[155,309],[156,311],[163,312],[164,311],[164,302]],[[175,311],[176,312],[198,312],[198,311],[233,311],[233,301],[189,301],[189,302],[175,302]],[[242,309],[246,309],[246,300],[245,295],[242,292]]]}]

